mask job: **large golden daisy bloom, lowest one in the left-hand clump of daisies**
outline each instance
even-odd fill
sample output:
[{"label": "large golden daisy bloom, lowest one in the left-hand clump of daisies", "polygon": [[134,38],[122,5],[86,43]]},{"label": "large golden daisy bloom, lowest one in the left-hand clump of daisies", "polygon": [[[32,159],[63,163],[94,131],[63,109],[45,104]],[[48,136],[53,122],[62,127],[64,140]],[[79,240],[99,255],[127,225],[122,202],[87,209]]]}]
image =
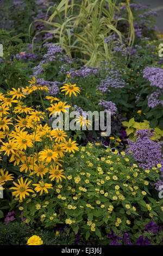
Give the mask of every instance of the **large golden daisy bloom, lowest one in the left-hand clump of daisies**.
[{"label": "large golden daisy bloom, lowest one in the left-hand clump of daisies", "polygon": [[13,181],[13,184],[15,185],[15,187],[10,187],[10,190],[16,190],[12,192],[12,196],[15,196],[15,197],[19,196],[20,199],[22,200],[22,198],[25,198],[26,195],[29,196],[28,192],[34,193],[34,191],[29,187],[29,184],[32,182],[32,180],[28,181],[28,179],[26,179],[25,181],[23,181],[23,178],[21,177],[21,179],[20,180],[18,179],[17,181],[18,181],[18,184]]}]

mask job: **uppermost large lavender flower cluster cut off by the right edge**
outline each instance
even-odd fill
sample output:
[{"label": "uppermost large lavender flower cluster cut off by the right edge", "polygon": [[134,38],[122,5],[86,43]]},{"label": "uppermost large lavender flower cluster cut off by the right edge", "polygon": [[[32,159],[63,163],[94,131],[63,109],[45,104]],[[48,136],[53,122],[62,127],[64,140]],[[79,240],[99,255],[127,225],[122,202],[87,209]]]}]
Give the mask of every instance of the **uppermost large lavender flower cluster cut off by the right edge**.
[{"label": "uppermost large lavender flower cluster cut off by the right edge", "polygon": [[151,83],[151,86],[163,89],[163,69],[147,66],[143,70],[143,77]]}]

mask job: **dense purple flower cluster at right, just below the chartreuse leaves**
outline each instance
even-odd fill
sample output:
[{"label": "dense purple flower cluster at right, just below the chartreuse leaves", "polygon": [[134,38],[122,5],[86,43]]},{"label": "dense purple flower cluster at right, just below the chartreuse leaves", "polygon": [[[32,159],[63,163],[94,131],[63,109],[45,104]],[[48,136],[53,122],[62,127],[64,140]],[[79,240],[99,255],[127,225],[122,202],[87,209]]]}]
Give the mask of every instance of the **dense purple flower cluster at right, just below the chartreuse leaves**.
[{"label": "dense purple flower cluster at right, just below the chartreuse leaves", "polygon": [[[148,129],[139,130],[135,134],[135,137],[137,137],[135,142],[127,139],[129,148],[126,150],[126,153],[129,154],[129,151],[131,151],[131,155],[134,157],[135,161],[139,163],[139,167],[143,169],[155,167],[158,163],[163,166],[161,153],[162,143],[152,141],[152,139],[149,138],[152,134],[152,131]],[[160,171],[161,176],[163,176],[162,167]]]}]

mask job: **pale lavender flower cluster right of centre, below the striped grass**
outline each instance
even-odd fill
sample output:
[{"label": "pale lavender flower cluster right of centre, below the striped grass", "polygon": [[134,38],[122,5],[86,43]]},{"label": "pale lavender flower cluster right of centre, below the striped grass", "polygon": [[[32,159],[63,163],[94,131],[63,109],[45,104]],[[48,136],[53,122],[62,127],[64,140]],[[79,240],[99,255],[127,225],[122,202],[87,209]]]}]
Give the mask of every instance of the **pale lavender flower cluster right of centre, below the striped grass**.
[{"label": "pale lavender flower cluster right of centre, below the striped grass", "polygon": [[106,75],[105,79],[101,81],[98,90],[101,90],[103,93],[111,92],[111,88],[123,88],[128,85],[126,81],[122,79],[122,75],[124,74],[124,70],[118,70],[115,68],[108,69],[109,75]]}]

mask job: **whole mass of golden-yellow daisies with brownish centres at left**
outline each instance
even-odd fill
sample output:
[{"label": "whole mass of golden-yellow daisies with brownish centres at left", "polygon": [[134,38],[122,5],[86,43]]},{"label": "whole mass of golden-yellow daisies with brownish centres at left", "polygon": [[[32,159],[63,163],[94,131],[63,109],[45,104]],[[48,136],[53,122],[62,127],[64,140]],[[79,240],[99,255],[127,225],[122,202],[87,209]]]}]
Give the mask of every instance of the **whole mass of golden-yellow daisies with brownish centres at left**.
[{"label": "whole mass of golden-yellow daisies with brownish centres at left", "polygon": [[[47,92],[49,89],[46,86],[37,86],[35,77],[29,83],[26,88],[12,88],[5,95],[0,93],[0,153],[4,157],[8,156],[7,161],[20,168],[17,181],[13,181],[13,186],[10,187],[12,196],[20,199],[29,196],[29,193],[48,193],[53,188],[54,179],[57,182],[65,179],[64,170],[61,169],[64,161],[61,158],[67,152],[74,153],[74,150],[79,150],[76,141],[67,139],[64,130],[53,130],[48,122],[54,112],[65,113],[66,108],[71,106],[56,97],[46,96],[51,101],[51,107],[45,108],[41,91]],[[65,95],[69,93],[70,97],[80,93],[76,84],[68,83],[61,89],[61,92],[65,91]],[[22,101],[30,95],[32,103],[33,92],[39,94],[43,112],[34,109],[32,104],[28,107]],[[80,126],[82,125],[81,119]],[[11,180],[14,180],[14,174],[0,169],[0,186],[5,187],[5,183]]]}]

